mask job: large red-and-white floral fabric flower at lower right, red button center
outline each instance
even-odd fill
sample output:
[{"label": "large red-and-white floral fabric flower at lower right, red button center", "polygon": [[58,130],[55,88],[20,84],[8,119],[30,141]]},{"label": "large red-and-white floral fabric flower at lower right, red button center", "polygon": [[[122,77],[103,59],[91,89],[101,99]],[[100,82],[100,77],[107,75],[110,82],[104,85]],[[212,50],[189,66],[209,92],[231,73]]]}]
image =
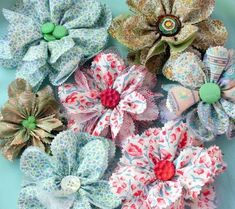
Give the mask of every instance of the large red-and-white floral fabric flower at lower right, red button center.
[{"label": "large red-and-white floral fabric flower at lower right, red button center", "polygon": [[194,140],[179,122],[130,137],[110,178],[122,208],[184,209],[187,200],[203,198],[204,187],[225,164],[218,147],[192,146]]}]

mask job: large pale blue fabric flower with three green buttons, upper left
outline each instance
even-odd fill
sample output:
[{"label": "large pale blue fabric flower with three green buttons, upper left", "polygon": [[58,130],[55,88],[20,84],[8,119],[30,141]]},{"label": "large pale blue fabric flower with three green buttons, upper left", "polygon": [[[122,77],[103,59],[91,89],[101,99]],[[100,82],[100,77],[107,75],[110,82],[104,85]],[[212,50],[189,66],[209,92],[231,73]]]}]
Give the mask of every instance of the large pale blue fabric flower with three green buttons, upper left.
[{"label": "large pale blue fabric flower with three green buttons, upper left", "polygon": [[24,0],[3,10],[10,23],[0,40],[0,63],[39,87],[49,75],[60,85],[105,46],[110,9],[97,0]]}]

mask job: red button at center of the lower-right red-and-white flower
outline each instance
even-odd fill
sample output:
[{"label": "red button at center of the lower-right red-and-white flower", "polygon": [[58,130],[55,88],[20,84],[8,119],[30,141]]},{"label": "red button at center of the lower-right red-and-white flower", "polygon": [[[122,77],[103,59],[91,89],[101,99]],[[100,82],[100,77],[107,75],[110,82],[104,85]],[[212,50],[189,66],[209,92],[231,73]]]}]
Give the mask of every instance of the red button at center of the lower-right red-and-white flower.
[{"label": "red button at center of the lower-right red-and-white flower", "polygon": [[154,167],[154,173],[158,180],[169,181],[175,176],[175,165],[167,160],[159,161]]}]

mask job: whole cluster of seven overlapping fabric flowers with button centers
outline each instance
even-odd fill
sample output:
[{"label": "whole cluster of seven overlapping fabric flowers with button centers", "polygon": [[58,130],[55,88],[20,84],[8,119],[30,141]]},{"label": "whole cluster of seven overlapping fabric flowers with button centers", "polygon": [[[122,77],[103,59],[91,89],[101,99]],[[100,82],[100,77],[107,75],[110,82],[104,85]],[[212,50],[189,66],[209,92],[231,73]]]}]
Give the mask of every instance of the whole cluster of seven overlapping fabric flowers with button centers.
[{"label": "whole cluster of seven overlapping fabric flowers with button centers", "polygon": [[[0,63],[17,71],[0,149],[21,156],[19,209],[217,207],[226,163],[204,143],[234,136],[235,63],[225,26],[210,19],[215,1],[127,4],[134,14],[113,21],[97,0],[3,10]],[[129,48],[127,60],[106,49],[108,32]],[[176,82],[165,96],[161,72]],[[43,87],[46,77],[54,88]],[[162,124],[166,109],[175,117]]]}]

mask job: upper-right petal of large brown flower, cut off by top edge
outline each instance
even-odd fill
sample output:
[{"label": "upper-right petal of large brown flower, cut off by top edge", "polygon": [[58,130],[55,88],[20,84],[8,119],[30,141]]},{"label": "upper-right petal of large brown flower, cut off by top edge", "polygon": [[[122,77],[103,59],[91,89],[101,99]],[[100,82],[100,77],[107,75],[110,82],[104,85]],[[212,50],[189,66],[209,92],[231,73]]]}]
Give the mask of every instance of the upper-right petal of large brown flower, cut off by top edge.
[{"label": "upper-right petal of large brown flower, cut off by top edge", "polygon": [[185,2],[184,0],[174,1],[172,14],[183,22],[195,24],[206,20],[215,7],[215,0],[208,0],[205,4],[201,0],[192,0]]}]

